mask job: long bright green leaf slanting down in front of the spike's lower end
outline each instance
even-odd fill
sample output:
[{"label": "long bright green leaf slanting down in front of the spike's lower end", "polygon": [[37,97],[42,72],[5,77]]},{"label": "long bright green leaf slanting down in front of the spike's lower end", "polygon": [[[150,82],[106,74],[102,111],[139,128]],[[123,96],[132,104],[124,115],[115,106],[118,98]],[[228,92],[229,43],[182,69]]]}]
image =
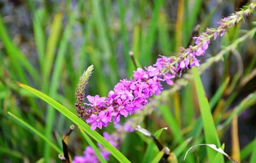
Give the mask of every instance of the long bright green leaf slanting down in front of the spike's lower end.
[{"label": "long bright green leaf slanting down in front of the spike's lower end", "polygon": [[74,113],[72,113],[69,109],[65,108],[63,105],[52,99],[51,97],[45,95],[44,93],[33,89],[32,87],[26,85],[17,83],[19,86],[23,87],[23,89],[28,90],[29,92],[33,93],[35,96],[41,98],[46,103],[50,104],[61,112],[64,116],[69,118],[73,123],[75,123],[78,127],[80,127],[82,130],[84,130],[88,135],[92,136],[94,140],[99,142],[103,147],[107,149],[118,161],[120,162],[130,162],[121,152],[118,151],[117,148],[113,147],[104,137],[102,137],[99,133],[97,133],[94,130],[90,129],[90,126],[85,123],[83,120],[78,118]]}]

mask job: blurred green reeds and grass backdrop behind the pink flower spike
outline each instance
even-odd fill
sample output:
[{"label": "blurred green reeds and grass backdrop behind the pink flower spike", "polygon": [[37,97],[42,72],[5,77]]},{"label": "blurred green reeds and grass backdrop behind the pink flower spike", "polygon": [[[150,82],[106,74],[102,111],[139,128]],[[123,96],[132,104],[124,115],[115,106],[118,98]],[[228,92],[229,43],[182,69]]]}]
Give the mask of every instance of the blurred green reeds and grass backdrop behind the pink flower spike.
[{"label": "blurred green reeds and grass backdrop behind the pink flower spike", "polygon": [[[180,46],[193,44],[193,34],[206,27],[217,27],[220,18],[246,3],[0,1],[0,162],[59,162],[54,149],[7,111],[33,126],[59,148],[62,148],[63,134],[72,124],[51,106],[20,89],[14,81],[35,87],[75,113],[76,85],[89,65],[93,64],[95,71],[87,94],[107,96],[119,79],[129,79],[135,70],[129,53],[133,53],[139,66],[152,65],[159,55],[175,55]],[[254,20],[255,16],[248,17],[223,39],[212,41],[201,62],[214,58],[221,49],[254,28]],[[198,24],[200,27],[196,28]],[[256,154],[255,49],[255,38],[247,39],[202,74],[221,143],[225,143],[227,153],[242,162],[249,162],[251,153]],[[169,127],[163,131],[160,141],[183,162],[189,147],[204,142],[203,132],[197,126],[202,120],[193,82],[162,96],[161,100],[165,101],[162,108],[148,115],[142,126],[152,133]],[[240,110],[234,113],[237,108]],[[226,120],[230,121],[218,129]],[[114,131],[113,126],[104,130]],[[176,141],[180,136],[181,141]],[[189,137],[192,141],[188,142]],[[148,158],[143,158],[148,148],[145,139],[148,138],[139,133],[127,134],[121,152],[132,162],[147,162]],[[82,155],[86,146],[87,142],[76,129],[69,139],[71,156]],[[205,148],[194,149],[185,162],[203,162]],[[111,158],[110,162],[116,160]]]}]

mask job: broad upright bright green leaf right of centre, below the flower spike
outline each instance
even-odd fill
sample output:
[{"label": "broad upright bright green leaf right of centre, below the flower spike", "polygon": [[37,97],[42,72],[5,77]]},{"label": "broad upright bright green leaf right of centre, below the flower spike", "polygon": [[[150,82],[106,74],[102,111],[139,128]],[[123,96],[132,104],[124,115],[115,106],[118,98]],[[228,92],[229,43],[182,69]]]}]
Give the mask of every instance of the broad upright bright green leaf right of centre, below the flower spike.
[{"label": "broad upright bright green leaf right of centre, below the flower spike", "polygon": [[[221,143],[215,128],[214,120],[211,115],[210,105],[208,103],[208,99],[205,96],[204,87],[196,67],[192,68],[192,73],[194,78],[194,84],[196,87],[200,113],[203,120],[205,142],[208,144],[215,144],[218,147],[221,147]],[[215,159],[216,153],[209,149],[207,149],[207,153],[209,161],[212,162]],[[224,162],[223,157],[221,158],[220,161]]]}]

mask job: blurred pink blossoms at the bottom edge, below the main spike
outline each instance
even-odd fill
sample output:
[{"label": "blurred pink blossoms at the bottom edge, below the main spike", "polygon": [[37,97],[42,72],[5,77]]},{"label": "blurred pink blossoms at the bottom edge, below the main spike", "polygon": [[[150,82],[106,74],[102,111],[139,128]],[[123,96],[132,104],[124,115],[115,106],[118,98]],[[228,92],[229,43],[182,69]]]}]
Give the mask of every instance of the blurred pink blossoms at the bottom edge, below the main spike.
[{"label": "blurred pink blossoms at the bottom edge, below the main spike", "polygon": [[[112,146],[115,148],[119,148],[119,142],[120,142],[120,137],[117,135],[109,135],[107,132],[103,133],[103,137],[111,143]],[[99,151],[102,157],[108,161],[109,156],[111,155],[110,152],[108,152],[105,148],[98,143]],[[87,146],[85,151],[83,152],[83,156],[75,156],[74,158],[74,163],[97,163],[100,162],[99,159],[97,158],[97,155],[95,154],[94,150],[92,147]]]}]

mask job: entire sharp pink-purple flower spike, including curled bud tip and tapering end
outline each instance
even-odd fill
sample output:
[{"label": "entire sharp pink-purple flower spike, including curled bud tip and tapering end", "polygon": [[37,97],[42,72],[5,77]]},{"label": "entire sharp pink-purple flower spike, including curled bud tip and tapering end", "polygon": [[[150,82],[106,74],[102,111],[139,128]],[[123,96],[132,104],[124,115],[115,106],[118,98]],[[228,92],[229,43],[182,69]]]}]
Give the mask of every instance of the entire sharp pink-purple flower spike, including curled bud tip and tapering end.
[{"label": "entire sharp pink-purple flower spike, including curled bud tip and tapering end", "polygon": [[253,13],[256,7],[256,1],[249,5],[245,10],[241,10],[222,18],[218,22],[218,28],[207,28],[205,32],[199,36],[193,37],[194,46],[188,48],[180,48],[178,57],[161,57],[156,63],[147,68],[137,68],[133,71],[130,80],[120,80],[114,89],[108,93],[108,97],[87,96],[89,104],[84,103],[87,108],[82,105],[84,100],[84,88],[88,81],[88,77],[92,73],[93,67],[90,66],[88,71],[84,72],[78,84],[76,91],[75,106],[78,116],[84,118],[87,123],[91,123],[91,128],[102,128],[107,126],[109,122],[118,123],[120,117],[127,117],[137,110],[143,109],[148,103],[148,98],[153,95],[159,95],[163,89],[162,82],[173,85],[175,77],[180,77],[182,71],[193,66],[198,67],[199,59],[208,49],[210,39],[216,39],[217,36],[223,36],[228,29],[243,20],[243,16]]}]

